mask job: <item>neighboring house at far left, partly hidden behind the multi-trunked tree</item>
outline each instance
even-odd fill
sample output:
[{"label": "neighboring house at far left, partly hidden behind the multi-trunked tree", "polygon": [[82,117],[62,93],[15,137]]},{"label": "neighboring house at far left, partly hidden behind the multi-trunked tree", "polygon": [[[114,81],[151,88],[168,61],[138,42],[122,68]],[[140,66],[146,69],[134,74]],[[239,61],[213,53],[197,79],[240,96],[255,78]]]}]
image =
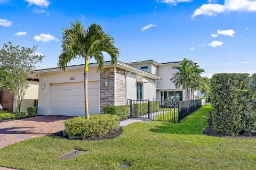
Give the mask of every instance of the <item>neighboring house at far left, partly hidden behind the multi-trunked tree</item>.
[{"label": "neighboring house at far left, partly hidden behind the multi-trunked tree", "polygon": [[[27,107],[32,107],[37,103],[39,79],[36,77],[29,77],[28,85],[29,87],[27,88],[26,94],[21,103],[21,112],[27,112]],[[8,91],[1,90],[0,103],[5,111],[15,112],[15,103],[12,95],[10,95]]]}]

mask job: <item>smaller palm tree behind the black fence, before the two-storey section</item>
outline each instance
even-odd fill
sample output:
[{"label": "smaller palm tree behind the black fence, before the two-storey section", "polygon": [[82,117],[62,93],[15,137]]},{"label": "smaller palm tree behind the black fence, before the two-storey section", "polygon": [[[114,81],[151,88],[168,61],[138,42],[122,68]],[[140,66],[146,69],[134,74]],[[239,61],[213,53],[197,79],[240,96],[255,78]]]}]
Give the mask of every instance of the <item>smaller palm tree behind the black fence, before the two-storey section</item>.
[{"label": "smaller palm tree behind the black fence, before the two-storey section", "polygon": [[194,90],[201,84],[201,73],[203,73],[204,70],[200,69],[200,67],[193,62],[190,62],[187,58],[183,59],[181,65],[173,65],[172,68],[178,70],[173,73],[173,77],[171,78],[175,87],[185,89],[185,100],[191,99],[191,92],[194,98]]}]

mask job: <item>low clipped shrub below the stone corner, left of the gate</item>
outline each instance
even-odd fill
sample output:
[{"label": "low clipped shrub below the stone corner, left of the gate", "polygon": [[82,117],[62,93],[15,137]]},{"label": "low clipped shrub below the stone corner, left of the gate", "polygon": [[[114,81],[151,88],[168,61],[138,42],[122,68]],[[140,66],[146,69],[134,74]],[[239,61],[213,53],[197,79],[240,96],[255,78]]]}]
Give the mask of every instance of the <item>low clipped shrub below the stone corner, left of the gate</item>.
[{"label": "low clipped shrub below the stone corner, left of the gate", "polygon": [[103,113],[109,115],[118,115],[120,119],[130,116],[130,105],[121,106],[103,106]]}]

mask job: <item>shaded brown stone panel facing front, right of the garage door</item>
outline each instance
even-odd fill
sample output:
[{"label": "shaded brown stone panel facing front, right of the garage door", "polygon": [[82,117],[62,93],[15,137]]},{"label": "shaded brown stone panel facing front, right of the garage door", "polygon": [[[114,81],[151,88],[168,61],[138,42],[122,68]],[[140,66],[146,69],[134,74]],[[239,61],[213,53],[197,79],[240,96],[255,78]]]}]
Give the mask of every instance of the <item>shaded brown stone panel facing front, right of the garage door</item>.
[{"label": "shaded brown stone panel facing front, right of the garage door", "polygon": [[[113,106],[115,104],[114,78],[114,67],[103,69],[103,71],[100,73],[100,114],[103,113],[103,106]],[[108,87],[105,87],[106,80],[108,80]]]}]

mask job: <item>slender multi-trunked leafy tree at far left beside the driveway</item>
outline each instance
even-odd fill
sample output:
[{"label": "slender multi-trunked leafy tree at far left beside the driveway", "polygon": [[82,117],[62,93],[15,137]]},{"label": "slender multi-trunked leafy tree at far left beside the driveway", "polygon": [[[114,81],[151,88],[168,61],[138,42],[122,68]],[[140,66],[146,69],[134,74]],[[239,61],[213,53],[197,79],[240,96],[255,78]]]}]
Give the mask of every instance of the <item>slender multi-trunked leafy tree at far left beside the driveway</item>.
[{"label": "slender multi-trunked leafy tree at far left beside the driveway", "polygon": [[27,78],[33,73],[37,63],[42,63],[43,55],[35,53],[37,46],[31,48],[13,46],[11,42],[4,44],[0,50],[0,84],[14,98],[15,112],[20,107],[26,89]]}]

